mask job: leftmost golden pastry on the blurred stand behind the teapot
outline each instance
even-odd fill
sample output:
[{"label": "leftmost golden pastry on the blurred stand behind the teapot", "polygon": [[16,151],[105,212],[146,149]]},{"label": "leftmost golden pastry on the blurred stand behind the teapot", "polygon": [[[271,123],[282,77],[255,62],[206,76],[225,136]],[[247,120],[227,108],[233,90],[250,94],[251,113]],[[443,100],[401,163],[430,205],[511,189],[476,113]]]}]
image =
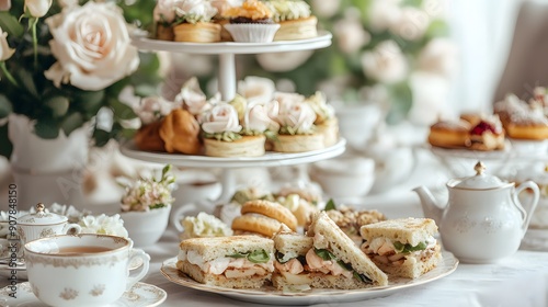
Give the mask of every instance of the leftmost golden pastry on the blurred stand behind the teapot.
[{"label": "leftmost golden pastry on the blurred stand behind the teapot", "polygon": [[430,126],[429,143],[443,148],[470,146],[470,124],[466,121],[439,121]]}]

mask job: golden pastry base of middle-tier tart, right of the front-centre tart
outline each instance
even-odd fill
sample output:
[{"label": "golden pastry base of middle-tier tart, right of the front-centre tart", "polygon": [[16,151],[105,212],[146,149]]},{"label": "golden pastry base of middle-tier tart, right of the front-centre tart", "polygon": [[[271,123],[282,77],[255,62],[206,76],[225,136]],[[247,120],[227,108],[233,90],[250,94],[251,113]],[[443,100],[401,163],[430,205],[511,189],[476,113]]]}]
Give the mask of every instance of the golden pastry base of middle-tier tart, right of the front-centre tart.
[{"label": "golden pastry base of middle-tier tart, right of the front-centre tart", "polygon": [[277,135],[272,143],[272,150],[277,152],[306,152],[324,148],[323,135]]}]

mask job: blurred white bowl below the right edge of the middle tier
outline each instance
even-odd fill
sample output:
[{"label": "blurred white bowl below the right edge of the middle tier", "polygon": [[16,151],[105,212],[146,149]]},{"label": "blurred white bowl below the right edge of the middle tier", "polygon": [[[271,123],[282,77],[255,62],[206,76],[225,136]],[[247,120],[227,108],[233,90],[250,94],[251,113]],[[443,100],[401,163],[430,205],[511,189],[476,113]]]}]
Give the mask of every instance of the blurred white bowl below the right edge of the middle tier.
[{"label": "blurred white bowl below the right edge of the middle tier", "polygon": [[310,179],[331,197],[365,196],[375,182],[375,161],[364,157],[343,157],[311,164]]}]

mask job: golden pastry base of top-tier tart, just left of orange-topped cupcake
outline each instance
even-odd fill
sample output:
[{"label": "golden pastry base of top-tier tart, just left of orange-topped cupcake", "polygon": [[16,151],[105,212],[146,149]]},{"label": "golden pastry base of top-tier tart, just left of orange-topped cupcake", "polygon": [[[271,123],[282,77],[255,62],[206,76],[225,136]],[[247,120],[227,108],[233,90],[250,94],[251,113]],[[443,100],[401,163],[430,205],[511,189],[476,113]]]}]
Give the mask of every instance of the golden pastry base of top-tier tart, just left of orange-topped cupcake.
[{"label": "golden pastry base of top-tier tart, just left of orange-topped cupcake", "polygon": [[221,26],[213,22],[181,23],[173,27],[175,42],[215,43],[220,42]]}]

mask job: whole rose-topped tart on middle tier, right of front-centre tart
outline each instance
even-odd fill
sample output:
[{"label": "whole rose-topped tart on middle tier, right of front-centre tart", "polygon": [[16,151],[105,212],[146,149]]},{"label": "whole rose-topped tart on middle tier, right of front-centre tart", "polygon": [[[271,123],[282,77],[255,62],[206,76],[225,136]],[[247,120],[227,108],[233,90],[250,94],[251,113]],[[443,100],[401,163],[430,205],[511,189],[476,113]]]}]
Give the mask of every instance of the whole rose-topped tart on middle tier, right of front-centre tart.
[{"label": "whole rose-topped tart on middle tier, right of front-centre tart", "polygon": [[279,124],[273,141],[278,152],[305,152],[324,148],[323,135],[316,133],[316,113],[299,94],[277,93],[267,105],[269,116]]}]

